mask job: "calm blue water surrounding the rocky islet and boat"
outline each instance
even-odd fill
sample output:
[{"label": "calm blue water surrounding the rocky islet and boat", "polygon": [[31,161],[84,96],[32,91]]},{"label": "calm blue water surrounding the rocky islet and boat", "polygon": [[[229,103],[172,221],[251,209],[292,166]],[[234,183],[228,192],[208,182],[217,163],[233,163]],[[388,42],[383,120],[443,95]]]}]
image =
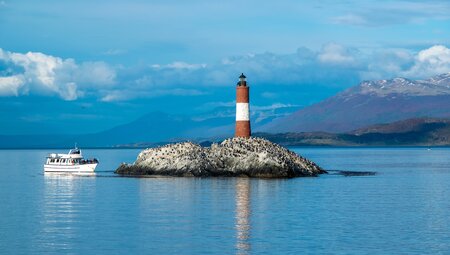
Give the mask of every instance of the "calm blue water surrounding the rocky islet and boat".
[{"label": "calm blue water surrounding the rocky islet and boat", "polygon": [[0,253],[450,254],[450,149],[295,151],[378,174],[119,178],[138,150],[85,150],[97,177],[47,176],[48,150],[0,151]]}]

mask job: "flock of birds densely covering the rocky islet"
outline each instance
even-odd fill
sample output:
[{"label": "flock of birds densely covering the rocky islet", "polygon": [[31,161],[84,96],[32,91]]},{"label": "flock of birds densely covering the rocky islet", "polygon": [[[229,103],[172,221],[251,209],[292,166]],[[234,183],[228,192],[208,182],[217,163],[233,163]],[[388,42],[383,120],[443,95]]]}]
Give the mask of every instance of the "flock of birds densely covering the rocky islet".
[{"label": "flock of birds densely covering the rocky islet", "polygon": [[192,142],[168,144],[142,151],[135,166],[154,171],[226,169],[295,169],[320,172],[319,166],[268,140],[256,137],[230,138],[202,147]]}]

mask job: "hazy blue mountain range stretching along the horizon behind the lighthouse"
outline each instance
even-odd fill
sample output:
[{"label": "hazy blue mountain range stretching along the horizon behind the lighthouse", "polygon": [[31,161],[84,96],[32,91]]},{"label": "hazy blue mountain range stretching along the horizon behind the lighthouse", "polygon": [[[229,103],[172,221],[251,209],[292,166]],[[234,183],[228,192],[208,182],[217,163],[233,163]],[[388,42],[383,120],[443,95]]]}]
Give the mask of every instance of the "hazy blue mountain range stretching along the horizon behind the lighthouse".
[{"label": "hazy blue mountain range stretching along the horizon behind the lighthouse", "polygon": [[[415,119],[416,122],[427,120],[431,124],[427,121],[425,124],[430,125],[437,125],[432,123],[438,122],[447,123],[445,119],[450,118],[450,73],[426,80],[394,78],[364,81],[293,113],[287,112],[282,107],[275,112],[271,111],[270,116],[266,116],[267,114],[254,109],[251,117],[254,131],[273,139],[297,137],[298,140],[303,137],[302,141],[306,141],[308,137],[314,137],[316,140],[310,144],[366,144],[367,141],[364,139],[369,137],[368,134],[404,134],[400,131],[409,130],[408,128],[415,123],[410,119]],[[398,122],[403,120],[408,121]],[[392,122],[395,122],[395,125],[377,125]],[[389,131],[388,127],[395,128]],[[128,124],[95,134],[0,136],[0,148],[65,148],[73,146],[75,142],[83,147],[114,147],[186,139],[211,141],[232,136],[233,131],[234,107],[231,105],[213,109],[196,117],[150,112]],[[423,132],[416,135],[419,134],[425,135]],[[442,131],[436,134],[447,133]],[[358,142],[361,137],[364,141]],[[377,139],[382,137],[377,135]],[[317,138],[320,138],[321,142],[317,143]],[[328,139],[329,142],[324,142],[324,139]],[[303,144],[303,142],[296,143]]]}]

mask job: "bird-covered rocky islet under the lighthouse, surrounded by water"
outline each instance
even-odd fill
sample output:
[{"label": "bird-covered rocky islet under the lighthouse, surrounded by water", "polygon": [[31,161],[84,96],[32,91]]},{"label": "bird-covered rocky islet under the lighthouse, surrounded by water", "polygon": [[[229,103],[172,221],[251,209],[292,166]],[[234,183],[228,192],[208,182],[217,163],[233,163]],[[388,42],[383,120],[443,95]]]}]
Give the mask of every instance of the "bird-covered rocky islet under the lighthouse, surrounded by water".
[{"label": "bird-covered rocky islet under the lighthouse, surrounded by water", "polygon": [[211,147],[192,142],[145,149],[121,175],[291,178],[326,173],[314,162],[262,138],[230,138]]}]

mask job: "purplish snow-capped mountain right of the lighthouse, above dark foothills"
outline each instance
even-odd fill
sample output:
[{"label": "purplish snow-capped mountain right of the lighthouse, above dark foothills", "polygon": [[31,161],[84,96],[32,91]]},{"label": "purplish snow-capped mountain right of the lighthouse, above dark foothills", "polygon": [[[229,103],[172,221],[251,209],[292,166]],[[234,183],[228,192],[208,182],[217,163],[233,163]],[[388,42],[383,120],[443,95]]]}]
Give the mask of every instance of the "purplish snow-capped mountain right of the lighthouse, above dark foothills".
[{"label": "purplish snow-capped mountain right of the lighthouse, above dark foothills", "polygon": [[450,73],[425,80],[364,81],[320,103],[263,126],[260,131],[349,132],[419,117],[450,117]]}]

